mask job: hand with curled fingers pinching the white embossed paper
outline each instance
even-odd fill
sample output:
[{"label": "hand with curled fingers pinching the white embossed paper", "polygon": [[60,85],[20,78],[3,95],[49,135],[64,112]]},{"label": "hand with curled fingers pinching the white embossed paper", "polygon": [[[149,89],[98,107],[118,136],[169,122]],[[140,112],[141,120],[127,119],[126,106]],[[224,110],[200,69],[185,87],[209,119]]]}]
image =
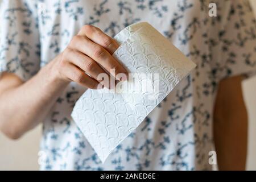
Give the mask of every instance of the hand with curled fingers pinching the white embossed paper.
[{"label": "hand with curled fingers pinching the white embossed paper", "polygon": [[[90,89],[110,88],[112,76],[119,81],[127,79],[125,68],[112,56],[117,48],[117,42],[100,28],[85,25],[56,57],[52,70],[63,81],[75,81]],[[102,73],[103,80],[102,75],[99,77]]]}]

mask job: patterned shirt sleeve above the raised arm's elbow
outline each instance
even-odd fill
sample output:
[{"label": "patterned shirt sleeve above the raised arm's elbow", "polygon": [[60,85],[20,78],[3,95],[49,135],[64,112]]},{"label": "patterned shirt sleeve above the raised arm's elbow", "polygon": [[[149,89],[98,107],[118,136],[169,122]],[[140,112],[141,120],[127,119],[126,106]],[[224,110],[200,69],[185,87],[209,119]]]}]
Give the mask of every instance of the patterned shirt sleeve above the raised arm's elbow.
[{"label": "patterned shirt sleeve above the raised arm's elbow", "polygon": [[39,71],[37,13],[36,1],[0,1],[0,74],[15,73],[27,81]]}]

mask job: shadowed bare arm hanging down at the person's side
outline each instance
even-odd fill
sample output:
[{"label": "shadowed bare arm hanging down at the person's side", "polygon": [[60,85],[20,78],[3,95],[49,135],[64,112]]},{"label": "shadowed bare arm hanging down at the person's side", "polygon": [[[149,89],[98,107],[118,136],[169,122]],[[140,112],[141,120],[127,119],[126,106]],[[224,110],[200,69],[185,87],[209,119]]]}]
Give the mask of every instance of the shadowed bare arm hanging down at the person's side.
[{"label": "shadowed bare arm hanging down at the person's side", "polygon": [[221,81],[214,110],[214,142],[220,170],[245,170],[247,111],[242,76]]}]

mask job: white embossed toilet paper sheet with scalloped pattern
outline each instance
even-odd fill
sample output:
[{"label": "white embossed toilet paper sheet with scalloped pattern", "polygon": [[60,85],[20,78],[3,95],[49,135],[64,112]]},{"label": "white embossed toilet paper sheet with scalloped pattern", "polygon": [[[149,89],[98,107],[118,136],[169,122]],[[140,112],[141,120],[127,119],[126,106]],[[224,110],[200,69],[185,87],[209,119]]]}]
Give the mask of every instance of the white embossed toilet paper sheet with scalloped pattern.
[{"label": "white embossed toilet paper sheet with scalloped pattern", "polygon": [[137,80],[129,77],[115,92],[86,90],[71,114],[102,163],[196,67],[146,22],[126,27],[114,39],[120,46],[113,56]]}]

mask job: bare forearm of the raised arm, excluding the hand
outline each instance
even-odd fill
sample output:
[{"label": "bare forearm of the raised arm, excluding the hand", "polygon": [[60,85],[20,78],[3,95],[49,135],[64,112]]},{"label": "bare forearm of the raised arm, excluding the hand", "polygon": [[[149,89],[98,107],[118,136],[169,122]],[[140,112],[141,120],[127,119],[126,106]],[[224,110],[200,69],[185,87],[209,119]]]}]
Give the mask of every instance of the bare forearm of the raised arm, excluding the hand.
[{"label": "bare forearm of the raised arm, excluding the hand", "polygon": [[0,94],[0,126],[3,133],[18,138],[42,122],[67,86],[58,80],[49,63],[34,77]]}]

